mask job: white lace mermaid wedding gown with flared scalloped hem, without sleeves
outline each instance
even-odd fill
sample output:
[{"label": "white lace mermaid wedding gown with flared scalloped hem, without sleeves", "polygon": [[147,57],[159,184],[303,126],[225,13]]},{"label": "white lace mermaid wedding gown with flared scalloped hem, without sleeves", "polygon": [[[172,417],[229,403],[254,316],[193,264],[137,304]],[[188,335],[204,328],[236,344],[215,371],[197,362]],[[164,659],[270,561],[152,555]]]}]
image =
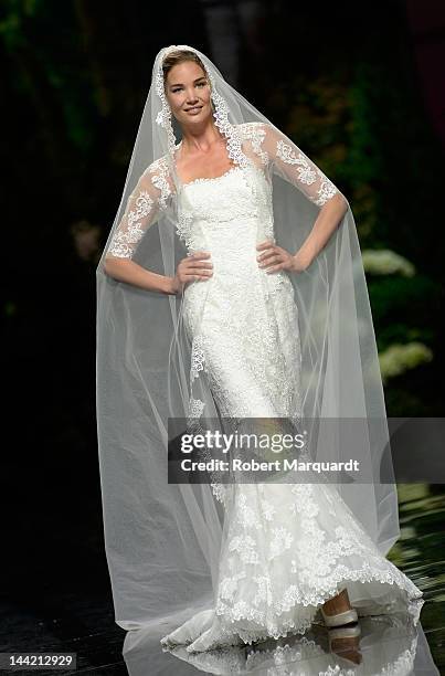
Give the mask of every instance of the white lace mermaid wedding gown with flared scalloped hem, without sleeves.
[{"label": "white lace mermaid wedding gown with flared scalloped hem, without sleeves", "polygon": [[[227,416],[286,416],[300,405],[293,285],[287,273],[267,274],[256,261],[256,244],[271,236],[268,191],[259,169],[234,167],[186,183],[180,194],[180,234],[192,250],[210,252],[213,263],[210,279],[186,289],[191,380],[205,374]],[[191,398],[198,415],[201,405]],[[165,636],[163,646],[200,652],[305,633],[342,587],[361,614],[406,609],[422,595],[380,554],[332,485],[220,490],[227,538],[215,606]]]}]

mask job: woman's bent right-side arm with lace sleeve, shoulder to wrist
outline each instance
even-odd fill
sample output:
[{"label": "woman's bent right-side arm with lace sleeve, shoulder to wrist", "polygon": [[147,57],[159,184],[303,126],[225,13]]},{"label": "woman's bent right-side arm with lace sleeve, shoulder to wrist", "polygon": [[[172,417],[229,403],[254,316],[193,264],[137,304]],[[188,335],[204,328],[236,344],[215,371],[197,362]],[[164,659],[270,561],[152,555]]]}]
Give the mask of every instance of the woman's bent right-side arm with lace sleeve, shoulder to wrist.
[{"label": "woman's bent right-side arm with lace sleeve, shoulder to wrist", "polygon": [[314,228],[303,246],[294,254],[295,271],[306,270],[324,249],[349,209],[343,194],[325,173],[284,134],[263,125],[264,141],[272,169],[298,188],[320,208]]}]

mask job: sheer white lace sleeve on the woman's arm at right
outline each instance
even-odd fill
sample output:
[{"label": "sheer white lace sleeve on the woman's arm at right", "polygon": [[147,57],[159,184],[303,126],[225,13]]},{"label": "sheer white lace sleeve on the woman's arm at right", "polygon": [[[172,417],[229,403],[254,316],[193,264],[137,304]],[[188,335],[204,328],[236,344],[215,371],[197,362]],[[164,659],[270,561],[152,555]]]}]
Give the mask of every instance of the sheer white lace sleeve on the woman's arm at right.
[{"label": "sheer white lace sleeve on the woman's arm at right", "polygon": [[[263,151],[272,170],[301,190],[315,204],[322,207],[335,194],[341,194],[327,176],[284,134],[271,125],[261,125]],[[269,165],[269,166],[271,166]]]}]

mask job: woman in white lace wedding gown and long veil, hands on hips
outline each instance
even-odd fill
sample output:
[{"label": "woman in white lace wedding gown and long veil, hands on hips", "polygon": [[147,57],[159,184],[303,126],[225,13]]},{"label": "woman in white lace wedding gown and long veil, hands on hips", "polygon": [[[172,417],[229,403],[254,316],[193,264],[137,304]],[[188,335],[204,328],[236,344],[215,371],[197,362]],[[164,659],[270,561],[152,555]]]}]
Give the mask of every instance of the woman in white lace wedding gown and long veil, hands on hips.
[{"label": "woman in white lace wedding gown and long veil, hands on hips", "polygon": [[[418,616],[422,592],[385,559],[399,536],[396,494],[349,204],[188,45],[155,61],[98,268],[97,326],[120,626],[176,627],[163,646],[201,652],[305,633],[319,616],[340,637],[359,634],[358,614]],[[201,431],[216,419],[231,430],[308,421],[306,457],[353,456],[369,472],[335,485],[314,473],[303,484],[290,473],[226,483],[216,472],[211,487],[168,483],[173,418]],[[353,448],[343,426],[326,435],[314,422],[331,418],[364,420]]]}]

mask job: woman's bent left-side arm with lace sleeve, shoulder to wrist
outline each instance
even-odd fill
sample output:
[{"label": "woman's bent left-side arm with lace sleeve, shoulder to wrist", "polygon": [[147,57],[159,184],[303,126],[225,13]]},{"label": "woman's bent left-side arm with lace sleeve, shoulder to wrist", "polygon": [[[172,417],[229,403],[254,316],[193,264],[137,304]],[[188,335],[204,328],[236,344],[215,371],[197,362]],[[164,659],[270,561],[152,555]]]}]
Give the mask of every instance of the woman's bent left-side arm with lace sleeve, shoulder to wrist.
[{"label": "woman's bent left-side arm with lace sleeve, shoulder to wrist", "polygon": [[146,231],[167,205],[166,200],[171,194],[167,173],[165,162],[157,160],[139,178],[105,254],[104,271],[139,288],[177,294],[179,289],[173,277],[150,272],[131,260]]}]

